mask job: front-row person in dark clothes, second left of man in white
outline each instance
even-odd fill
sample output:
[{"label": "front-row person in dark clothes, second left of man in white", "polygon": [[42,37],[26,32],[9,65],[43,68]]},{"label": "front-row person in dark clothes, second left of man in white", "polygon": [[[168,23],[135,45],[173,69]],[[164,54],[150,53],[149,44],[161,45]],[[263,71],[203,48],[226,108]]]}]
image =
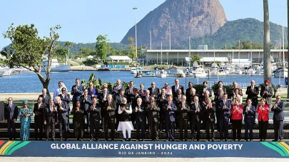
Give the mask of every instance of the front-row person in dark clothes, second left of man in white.
[{"label": "front-row person in dark clothes, second left of man in white", "polygon": [[[97,103],[97,99],[93,98],[92,105],[86,110],[89,114],[91,140],[98,141],[99,121],[101,120],[101,106]],[[94,131],[95,130],[95,131]]]}]

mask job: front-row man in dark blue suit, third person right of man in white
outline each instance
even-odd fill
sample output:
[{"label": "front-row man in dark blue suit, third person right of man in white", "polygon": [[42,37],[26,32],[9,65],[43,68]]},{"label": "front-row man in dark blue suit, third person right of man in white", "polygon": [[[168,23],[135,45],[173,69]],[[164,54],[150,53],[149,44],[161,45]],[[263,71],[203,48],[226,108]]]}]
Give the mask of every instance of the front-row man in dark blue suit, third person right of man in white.
[{"label": "front-row man in dark blue suit, third person right of man in white", "polygon": [[[167,95],[167,100],[163,104],[163,112],[166,122],[166,141],[171,137],[175,141],[176,104],[173,103],[172,95]],[[171,131],[170,131],[171,130]]]}]

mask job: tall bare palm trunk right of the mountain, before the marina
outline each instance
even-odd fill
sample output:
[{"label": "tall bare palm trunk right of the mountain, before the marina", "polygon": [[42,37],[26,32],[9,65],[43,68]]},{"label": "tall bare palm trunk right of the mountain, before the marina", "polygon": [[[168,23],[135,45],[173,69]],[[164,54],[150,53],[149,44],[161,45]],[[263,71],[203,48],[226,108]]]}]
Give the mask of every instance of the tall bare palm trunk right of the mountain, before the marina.
[{"label": "tall bare palm trunk right of the mountain, before the marina", "polygon": [[263,39],[263,63],[264,63],[264,80],[271,82],[271,59],[270,59],[270,26],[269,26],[269,9],[268,0],[263,0],[264,10],[264,39]]}]

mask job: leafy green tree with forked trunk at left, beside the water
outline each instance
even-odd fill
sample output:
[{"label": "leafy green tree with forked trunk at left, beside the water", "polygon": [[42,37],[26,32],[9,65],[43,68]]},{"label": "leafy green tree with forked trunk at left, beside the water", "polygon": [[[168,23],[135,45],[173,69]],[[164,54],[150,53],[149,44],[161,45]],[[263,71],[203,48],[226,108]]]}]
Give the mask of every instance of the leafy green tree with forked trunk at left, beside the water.
[{"label": "leafy green tree with forked trunk at left, beside the water", "polygon": [[[11,41],[9,48],[1,50],[1,55],[6,57],[5,63],[9,64],[11,68],[23,67],[35,72],[47,92],[49,92],[51,59],[58,46],[56,41],[59,39],[59,34],[56,33],[56,30],[59,28],[61,26],[50,28],[49,37],[40,38],[34,24],[14,27],[12,23],[3,34],[4,38],[9,38]],[[46,55],[48,66],[44,67],[42,61]],[[41,75],[41,69],[45,70],[46,77]]]}]

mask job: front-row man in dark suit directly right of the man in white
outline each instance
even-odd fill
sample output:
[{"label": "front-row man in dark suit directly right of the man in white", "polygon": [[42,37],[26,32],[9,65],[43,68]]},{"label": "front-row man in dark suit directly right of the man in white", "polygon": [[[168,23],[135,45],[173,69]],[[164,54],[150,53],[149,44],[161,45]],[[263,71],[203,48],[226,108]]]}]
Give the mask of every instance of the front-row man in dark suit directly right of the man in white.
[{"label": "front-row man in dark suit directly right of the man in white", "polygon": [[[136,107],[132,107],[133,112],[136,113],[136,141],[144,141],[146,138],[146,112],[145,104],[141,104],[142,99],[136,99]],[[141,129],[141,136],[140,136]]]}]

